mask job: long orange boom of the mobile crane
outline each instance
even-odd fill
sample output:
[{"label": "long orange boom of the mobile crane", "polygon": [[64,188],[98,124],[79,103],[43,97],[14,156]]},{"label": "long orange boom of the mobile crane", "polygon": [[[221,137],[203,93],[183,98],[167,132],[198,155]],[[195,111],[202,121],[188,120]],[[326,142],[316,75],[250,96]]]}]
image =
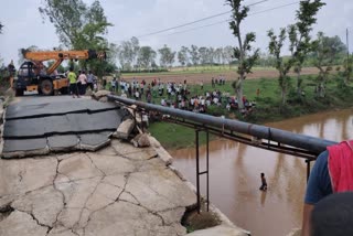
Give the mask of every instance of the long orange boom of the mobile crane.
[{"label": "long orange boom of the mobile crane", "polygon": [[92,60],[92,58],[106,58],[106,52],[97,52],[94,50],[81,51],[40,51],[31,52],[22,50],[23,57],[31,60],[36,64],[42,64],[44,61],[54,60],[55,63],[46,69],[46,74],[52,74],[64,60]]}]

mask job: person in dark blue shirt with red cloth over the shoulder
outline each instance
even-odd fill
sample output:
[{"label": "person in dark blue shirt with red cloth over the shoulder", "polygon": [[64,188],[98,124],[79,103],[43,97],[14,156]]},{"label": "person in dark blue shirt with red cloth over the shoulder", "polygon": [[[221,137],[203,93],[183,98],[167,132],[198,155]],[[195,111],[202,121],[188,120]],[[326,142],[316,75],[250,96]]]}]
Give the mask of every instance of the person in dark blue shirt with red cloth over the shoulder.
[{"label": "person in dark blue shirt with red cloth over the shoulder", "polygon": [[304,196],[302,236],[311,235],[315,204],[332,193],[353,191],[353,140],[327,147],[312,168]]}]

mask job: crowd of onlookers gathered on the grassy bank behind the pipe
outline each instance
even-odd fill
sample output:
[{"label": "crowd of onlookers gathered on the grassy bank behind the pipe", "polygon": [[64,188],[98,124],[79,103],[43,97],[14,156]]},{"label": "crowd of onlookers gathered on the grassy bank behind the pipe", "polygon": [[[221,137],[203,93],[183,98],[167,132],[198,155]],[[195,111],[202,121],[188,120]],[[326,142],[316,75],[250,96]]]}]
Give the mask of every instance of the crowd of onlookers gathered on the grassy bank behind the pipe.
[{"label": "crowd of onlookers gathered on the grassy bank behind the pipe", "polygon": [[[119,84],[119,85],[117,85]],[[120,81],[119,83],[114,78],[111,81],[110,89],[117,92],[117,87],[121,89],[121,96],[130,97],[137,100],[141,100],[145,96],[147,103],[154,103],[156,98],[160,99],[160,105],[171,108],[178,108],[183,110],[190,110],[194,112],[206,112],[212,106],[222,107],[224,109],[238,110],[238,100],[236,97],[229,96],[228,93],[222,93],[221,89],[216,89],[216,85],[225,85],[225,76],[218,78],[212,78],[212,90],[204,90],[203,81],[201,81],[201,93],[191,95],[188,81],[183,83],[167,82],[161,79],[153,79],[148,83],[142,79],[138,82],[133,78],[130,82]],[[253,111],[255,107],[254,101],[249,101],[245,96],[242,98],[244,108],[240,112],[246,116]]]}]

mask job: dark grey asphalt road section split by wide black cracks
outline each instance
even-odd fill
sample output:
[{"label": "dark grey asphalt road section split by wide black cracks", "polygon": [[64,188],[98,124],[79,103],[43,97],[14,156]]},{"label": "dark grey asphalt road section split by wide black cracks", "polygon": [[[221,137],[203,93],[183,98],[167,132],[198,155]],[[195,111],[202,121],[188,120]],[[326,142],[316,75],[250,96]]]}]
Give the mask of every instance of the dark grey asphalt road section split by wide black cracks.
[{"label": "dark grey asphalt road section split by wide black cracks", "polygon": [[53,151],[94,151],[109,143],[127,111],[72,97],[26,97],[6,111],[3,158]]}]

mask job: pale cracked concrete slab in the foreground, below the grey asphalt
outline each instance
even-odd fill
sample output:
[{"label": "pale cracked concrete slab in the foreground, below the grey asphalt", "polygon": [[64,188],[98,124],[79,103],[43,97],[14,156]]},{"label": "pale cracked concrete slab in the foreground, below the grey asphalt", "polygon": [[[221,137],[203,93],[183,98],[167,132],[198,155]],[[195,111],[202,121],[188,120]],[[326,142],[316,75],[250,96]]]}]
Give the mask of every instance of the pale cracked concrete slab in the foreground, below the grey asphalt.
[{"label": "pale cracked concrete slab in the foreground, below the grey asphalt", "polygon": [[185,235],[181,218],[196,203],[194,191],[150,148],[118,143],[98,153],[0,159],[0,208],[9,210],[0,235]]}]

